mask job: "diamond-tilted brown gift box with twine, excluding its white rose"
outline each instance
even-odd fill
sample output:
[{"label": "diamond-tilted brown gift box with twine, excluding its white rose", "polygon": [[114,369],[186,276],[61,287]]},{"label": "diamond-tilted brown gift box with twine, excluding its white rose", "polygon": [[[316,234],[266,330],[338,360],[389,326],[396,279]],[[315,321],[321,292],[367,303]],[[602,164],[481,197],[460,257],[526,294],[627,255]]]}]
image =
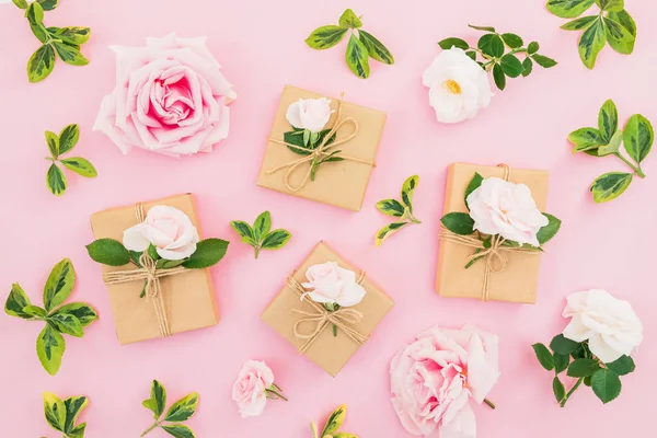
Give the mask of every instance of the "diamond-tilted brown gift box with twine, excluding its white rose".
[{"label": "diamond-tilted brown gift box with twine, excluding its white rose", "polygon": [[[313,265],[326,262],[337,262],[341,267],[355,272],[367,291],[360,303],[341,309],[348,312],[338,321],[337,336],[333,336],[332,322],[323,321],[323,316],[330,313],[321,304],[310,298],[301,301],[303,289],[300,285],[307,281],[306,272]],[[291,273],[280,293],[262,313],[261,320],[285,337],[299,353],[335,377],[367,342],[393,306],[394,301],[365,273],[349,264],[324,242],[320,242],[301,266]],[[354,315],[357,315],[358,322],[355,322]]]}]

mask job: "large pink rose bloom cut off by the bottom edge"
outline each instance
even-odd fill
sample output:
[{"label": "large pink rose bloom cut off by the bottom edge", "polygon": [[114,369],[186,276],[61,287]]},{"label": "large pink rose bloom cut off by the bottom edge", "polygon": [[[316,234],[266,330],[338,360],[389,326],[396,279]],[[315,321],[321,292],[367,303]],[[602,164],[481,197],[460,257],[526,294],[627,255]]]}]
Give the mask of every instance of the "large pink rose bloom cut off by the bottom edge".
[{"label": "large pink rose bloom cut off by the bottom edge", "polygon": [[390,364],[392,405],[412,435],[474,438],[470,399],[481,404],[499,377],[496,335],[471,325],[433,327]]}]

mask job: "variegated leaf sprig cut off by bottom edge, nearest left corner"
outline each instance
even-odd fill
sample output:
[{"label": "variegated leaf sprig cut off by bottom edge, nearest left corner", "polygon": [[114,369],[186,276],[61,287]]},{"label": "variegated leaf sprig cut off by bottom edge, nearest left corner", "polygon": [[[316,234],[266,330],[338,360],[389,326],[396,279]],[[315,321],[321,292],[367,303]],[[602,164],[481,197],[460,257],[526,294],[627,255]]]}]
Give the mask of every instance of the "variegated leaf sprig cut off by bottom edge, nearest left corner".
[{"label": "variegated leaf sprig cut off by bottom edge, nearest left corner", "polygon": [[44,414],[46,422],[62,438],[83,438],[87,423],[76,424],[82,410],[89,404],[84,395],[76,395],[62,401],[51,392],[44,392]]}]

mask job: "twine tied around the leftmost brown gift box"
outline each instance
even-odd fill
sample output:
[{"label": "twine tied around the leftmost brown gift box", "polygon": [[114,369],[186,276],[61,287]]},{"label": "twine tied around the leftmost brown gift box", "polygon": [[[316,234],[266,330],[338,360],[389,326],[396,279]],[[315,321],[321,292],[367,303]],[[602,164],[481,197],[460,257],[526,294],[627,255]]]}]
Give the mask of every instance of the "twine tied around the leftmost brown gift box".
[{"label": "twine tied around the leftmost brown gift box", "polygon": [[[135,206],[135,216],[137,222],[141,223],[145,220],[143,206],[137,204]],[[146,280],[143,291],[146,292],[146,301],[152,299],[153,308],[155,310],[155,318],[158,320],[158,327],[160,328],[160,335],[163,337],[171,336],[171,328],[169,327],[169,319],[166,318],[166,307],[164,304],[164,298],[162,297],[162,287],[160,285],[160,278],[177,275],[186,269],[182,266],[173,268],[158,269],[155,261],[145,251],[139,257],[139,264],[141,265],[138,269],[132,270],[117,270],[114,273],[105,273],[104,280],[106,285],[119,285],[123,283]]]}]

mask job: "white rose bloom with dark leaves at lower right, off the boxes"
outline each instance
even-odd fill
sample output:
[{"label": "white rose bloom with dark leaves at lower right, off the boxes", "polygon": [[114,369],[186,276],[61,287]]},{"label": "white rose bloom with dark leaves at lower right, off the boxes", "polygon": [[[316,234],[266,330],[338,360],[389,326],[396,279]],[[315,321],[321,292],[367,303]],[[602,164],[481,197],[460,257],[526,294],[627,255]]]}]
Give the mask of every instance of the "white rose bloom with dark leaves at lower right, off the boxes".
[{"label": "white rose bloom with dark leaves at lower right, off the boxes", "polygon": [[570,293],[563,316],[570,318],[564,336],[589,342],[589,349],[604,364],[630,356],[643,341],[643,324],[627,301],[607,290]]}]

